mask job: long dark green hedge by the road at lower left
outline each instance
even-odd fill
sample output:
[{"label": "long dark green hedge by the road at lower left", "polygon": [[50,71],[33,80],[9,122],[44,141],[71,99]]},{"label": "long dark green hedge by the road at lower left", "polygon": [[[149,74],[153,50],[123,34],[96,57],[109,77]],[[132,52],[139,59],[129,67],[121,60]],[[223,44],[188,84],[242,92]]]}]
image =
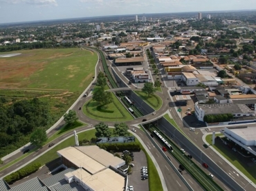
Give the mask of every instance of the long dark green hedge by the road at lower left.
[{"label": "long dark green hedge by the road at lower left", "polygon": [[12,172],[12,174],[9,174],[3,179],[6,181],[6,183],[12,184],[12,183],[15,183],[15,181],[23,179],[24,177],[28,177],[28,175],[39,170],[40,167],[41,167],[41,163],[33,163],[31,165],[26,165],[24,168],[21,168],[16,172]]}]

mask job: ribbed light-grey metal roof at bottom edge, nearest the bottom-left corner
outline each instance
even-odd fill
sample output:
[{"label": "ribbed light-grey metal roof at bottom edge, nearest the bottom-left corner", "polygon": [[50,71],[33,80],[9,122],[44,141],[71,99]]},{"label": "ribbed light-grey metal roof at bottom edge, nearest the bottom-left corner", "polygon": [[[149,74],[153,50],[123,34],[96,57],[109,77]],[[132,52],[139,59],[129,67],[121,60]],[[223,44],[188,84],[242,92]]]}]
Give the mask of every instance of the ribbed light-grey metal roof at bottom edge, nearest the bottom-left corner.
[{"label": "ribbed light-grey metal roof at bottom edge, nearest the bottom-left corner", "polygon": [[38,177],[16,185],[9,191],[48,191],[48,188],[38,179]]}]

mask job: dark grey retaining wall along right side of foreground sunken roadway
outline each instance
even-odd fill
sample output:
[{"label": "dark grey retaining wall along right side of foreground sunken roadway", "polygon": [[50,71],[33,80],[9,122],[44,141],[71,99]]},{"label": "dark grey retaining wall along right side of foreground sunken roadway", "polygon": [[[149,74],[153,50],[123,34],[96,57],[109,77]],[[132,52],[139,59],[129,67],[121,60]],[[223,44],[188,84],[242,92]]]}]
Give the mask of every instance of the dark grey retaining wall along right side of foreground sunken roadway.
[{"label": "dark grey retaining wall along right side of foreground sunken roadway", "polygon": [[158,128],[168,137],[174,136],[174,142],[181,145],[181,148],[191,154],[196,161],[199,161],[200,163],[207,163],[209,166],[208,170],[210,170],[215,177],[218,177],[219,180],[228,185],[231,190],[244,190],[203,151],[199,150],[196,145],[192,144],[186,137],[183,136],[183,134],[181,134],[181,132],[179,132],[179,130],[176,130],[176,128],[174,128],[174,126],[171,125],[165,118],[162,117],[161,119],[158,119],[156,124],[158,125]]}]

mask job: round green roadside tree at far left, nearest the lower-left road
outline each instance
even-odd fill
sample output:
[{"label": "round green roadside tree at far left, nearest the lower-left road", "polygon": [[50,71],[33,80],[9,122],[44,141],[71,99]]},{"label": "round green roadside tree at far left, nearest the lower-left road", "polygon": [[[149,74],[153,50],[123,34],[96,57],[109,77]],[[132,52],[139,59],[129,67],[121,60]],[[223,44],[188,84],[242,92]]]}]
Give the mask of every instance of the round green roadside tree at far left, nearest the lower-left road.
[{"label": "round green roadside tree at far left, nearest the lower-left road", "polygon": [[31,135],[30,135],[30,143],[35,146],[42,146],[47,141],[47,134],[46,131],[42,128],[37,128]]}]

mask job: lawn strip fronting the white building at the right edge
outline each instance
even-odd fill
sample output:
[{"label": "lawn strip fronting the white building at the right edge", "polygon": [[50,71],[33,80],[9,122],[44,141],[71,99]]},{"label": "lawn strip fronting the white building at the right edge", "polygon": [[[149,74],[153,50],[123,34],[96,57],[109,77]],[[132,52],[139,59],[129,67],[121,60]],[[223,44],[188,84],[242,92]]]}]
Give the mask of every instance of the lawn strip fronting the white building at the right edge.
[{"label": "lawn strip fronting the white building at the right edge", "polygon": [[[216,137],[222,134],[216,134]],[[212,145],[212,134],[208,134],[205,137],[206,141]],[[225,157],[232,165],[235,165],[243,174],[248,177],[253,183],[256,183],[256,165],[250,165],[245,162],[244,157],[237,157],[237,152],[233,152],[228,146],[224,145],[222,141],[216,140],[215,144],[212,147],[217,150],[223,157]],[[248,161],[246,159],[246,161]],[[252,162],[251,162],[252,163]]]}]

